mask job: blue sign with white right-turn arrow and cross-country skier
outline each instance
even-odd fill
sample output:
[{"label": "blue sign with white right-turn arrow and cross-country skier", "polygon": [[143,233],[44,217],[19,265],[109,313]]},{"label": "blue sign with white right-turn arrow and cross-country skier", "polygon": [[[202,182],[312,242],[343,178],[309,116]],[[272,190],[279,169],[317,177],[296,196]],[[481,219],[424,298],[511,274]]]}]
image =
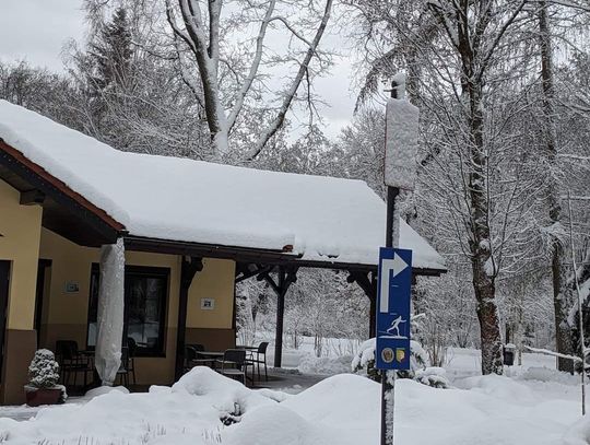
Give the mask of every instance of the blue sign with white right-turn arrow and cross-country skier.
[{"label": "blue sign with white right-turn arrow and cross-country skier", "polygon": [[412,250],[381,247],[377,288],[377,370],[410,370]]}]

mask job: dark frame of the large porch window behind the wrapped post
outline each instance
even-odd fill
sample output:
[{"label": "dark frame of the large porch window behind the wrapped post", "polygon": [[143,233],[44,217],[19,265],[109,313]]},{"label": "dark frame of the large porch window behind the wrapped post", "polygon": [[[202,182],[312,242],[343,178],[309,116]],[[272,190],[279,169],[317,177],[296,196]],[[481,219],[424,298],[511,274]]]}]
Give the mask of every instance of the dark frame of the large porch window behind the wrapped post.
[{"label": "dark frame of the large porch window behind the wrapped post", "polygon": [[[129,328],[129,315],[128,315],[128,288],[127,283],[129,276],[139,276],[143,278],[158,278],[164,279],[164,295],[162,298],[160,307],[160,331],[157,337],[157,346],[153,350],[145,351],[144,348],[138,348],[135,351],[135,356],[138,358],[165,358],[166,356],[166,341],[167,341],[167,330],[168,330],[168,306],[169,306],[169,295],[170,295],[170,268],[157,267],[157,266],[125,266],[125,312],[123,312],[123,344],[126,343],[127,332]],[[94,350],[95,346],[90,346],[90,325],[91,325],[91,313],[92,313],[92,296],[93,296],[93,281],[96,279],[96,285],[99,285],[101,280],[101,267],[99,264],[93,262],[91,266],[91,276],[90,276],[90,286],[88,286],[88,311],[86,317],[86,349]],[[96,300],[96,304],[98,301]],[[96,323],[96,321],[95,321]]]}]

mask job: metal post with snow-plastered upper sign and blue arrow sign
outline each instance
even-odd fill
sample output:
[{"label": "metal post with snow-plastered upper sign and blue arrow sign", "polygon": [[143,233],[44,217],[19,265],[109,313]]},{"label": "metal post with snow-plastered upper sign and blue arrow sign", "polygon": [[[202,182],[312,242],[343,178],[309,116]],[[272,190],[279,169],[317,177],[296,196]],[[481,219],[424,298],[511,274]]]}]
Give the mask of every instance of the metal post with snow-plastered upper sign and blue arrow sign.
[{"label": "metal post with snow-plastered upper sign and blue arrow sign", "polygon": [[[381,445],[393,445],[396,372],[410,368],[412,251],[399,247],[400,189],[413,190],[418,109],[404,99],[405,77],[393,78],[386,110],[386,247],[379,251],[375,366],[381,377]],[[399,97],[399,98],[398,98]]]}]

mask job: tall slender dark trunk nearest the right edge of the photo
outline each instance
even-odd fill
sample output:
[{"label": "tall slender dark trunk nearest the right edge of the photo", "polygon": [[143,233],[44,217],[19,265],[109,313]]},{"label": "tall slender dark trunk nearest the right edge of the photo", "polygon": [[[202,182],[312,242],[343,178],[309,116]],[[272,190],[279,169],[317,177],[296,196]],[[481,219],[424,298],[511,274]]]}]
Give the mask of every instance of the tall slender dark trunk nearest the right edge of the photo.
[{"label": "tall slender dark trunk nearest the right edge of the photo", "polygon": [[[547,3],[539,3],[539,38],[541,49],[541,79],[543,85],[543,117],[545,120],[545,151],[548,160],[548,214],[554,231],[558,231],[562,220],[562,206],[559,198],[559,184],[555,177],[557,171],[557,147],[555,137],[555,90],[553,82],[553,57],[551,47],[551,34],[547,20]],[[557,352],[571,355],[574,346],[571,332],[567,323],[569,304],[566,301],[567,278],[564,268],[564,247],[557,236],[551,241],[551,271],[553,276],[553,305],[555,311],[555,342]],[[574,363],[568,359],[557,359],[559,371],[574,372]]]}]

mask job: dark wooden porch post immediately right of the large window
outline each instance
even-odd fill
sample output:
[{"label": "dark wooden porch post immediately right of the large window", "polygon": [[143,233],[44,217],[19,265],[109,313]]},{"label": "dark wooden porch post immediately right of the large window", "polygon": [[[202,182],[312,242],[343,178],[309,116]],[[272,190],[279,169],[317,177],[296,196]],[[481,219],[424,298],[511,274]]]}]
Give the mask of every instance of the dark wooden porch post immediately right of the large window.
[{"label": "dark wooden porch post immediately right of the large window", "polygon": [[188,291],[192,279],[203,270],[202,258],[182,257],[180,268],[180,293],[178,301],[178,330],[176,332],[176,365],[174,371],[174,380],[182,376],[185,371],[185,338],[187,333],[187,309],[188,309]]}]

